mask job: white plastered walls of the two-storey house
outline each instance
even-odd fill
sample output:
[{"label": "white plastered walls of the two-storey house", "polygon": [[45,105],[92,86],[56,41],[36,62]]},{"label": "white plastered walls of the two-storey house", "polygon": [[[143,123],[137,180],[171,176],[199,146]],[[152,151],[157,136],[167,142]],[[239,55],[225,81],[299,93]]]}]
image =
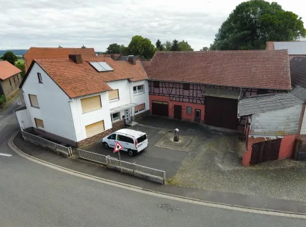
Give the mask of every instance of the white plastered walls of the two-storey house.
[{"label": "white plastered walls of the two-storey house", "polygon": [[[42,83],[39,83],[37,72],[41,73]],[[144,92],[134,94],[134,86],[144,86]],[[118,89],[119,99],[109,101],[108,92],[88,95],[70,99],[66,93],[57,86],[37,63],[34,64],[30,73],[23,83],[23,97],[26,102],[30,126],[37,128],[36,119],[44,122],[44,128],[39,128],[52,135],[69,139],[70,141],[82,141],[87,137],[86,126],[98,121],[104,121],[104,130],[112,128],[111,109],[135,103],[145,103],[145,110],[149,110],[149,83],[146,80],[129,82],[127,79],[108,82],[112,89]],[[36,95],[39,108],[31,106],[29,95]],[[81,99],[99,95],[102,108],[90,112],[83,112]],[[135,106],[135,105],[134,105]],[[134,108],[132,108],[134,115]],[[144,112],[142,110],[141,112]],[[124,109],[120,110],[120,118],[124,117]],[[140,112],[137,112],[139,114]],[[119,121],[118,119],[118,121]],[[115,122],[115,121],[114,121]],[[20,124],[20,123],[19,123]],[[20,125],[22,126],[22,125]]]}]

